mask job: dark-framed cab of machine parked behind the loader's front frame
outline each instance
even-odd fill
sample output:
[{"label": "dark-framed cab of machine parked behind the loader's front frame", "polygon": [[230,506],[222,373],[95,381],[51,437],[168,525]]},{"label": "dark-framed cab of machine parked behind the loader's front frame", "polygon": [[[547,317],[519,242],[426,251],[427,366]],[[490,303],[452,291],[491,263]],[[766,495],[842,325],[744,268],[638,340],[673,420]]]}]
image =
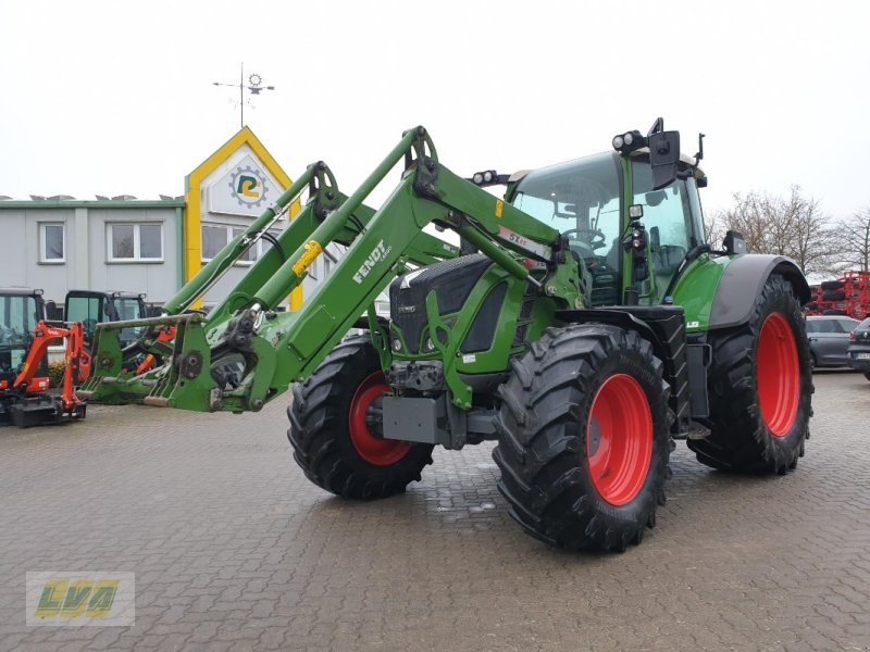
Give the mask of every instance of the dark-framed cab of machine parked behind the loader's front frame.
[{"label": "dark-framed cab of machine parked behind the loader's front frame", "polygon": [[[148,308],[145,304],[145,294],[70,290],[66,292],[64,315],[67,322],[82,322],[85,329],[85,342],[89,348],[94,342],[97,324],[141,319],[148,316]],[[139,330],[136,327],[119,330],[121,347],[124,348],[134,342]]]}]

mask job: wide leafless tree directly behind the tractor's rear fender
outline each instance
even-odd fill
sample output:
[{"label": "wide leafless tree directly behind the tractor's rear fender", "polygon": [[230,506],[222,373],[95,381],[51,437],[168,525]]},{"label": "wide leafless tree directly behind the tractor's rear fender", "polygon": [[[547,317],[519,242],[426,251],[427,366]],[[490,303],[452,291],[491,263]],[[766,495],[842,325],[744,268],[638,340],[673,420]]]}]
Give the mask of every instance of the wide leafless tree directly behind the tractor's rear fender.
[{"label": "wide leafless tree directly behind the tractor's rear fender", "polygon": [[737,192],[734,205],[713,216],[711,224],[716,223],[739,231],[748,251],[787,255],[806,274],[825,274],[838,266],[841,231],[799,186],[792,186],[785,198]]}]

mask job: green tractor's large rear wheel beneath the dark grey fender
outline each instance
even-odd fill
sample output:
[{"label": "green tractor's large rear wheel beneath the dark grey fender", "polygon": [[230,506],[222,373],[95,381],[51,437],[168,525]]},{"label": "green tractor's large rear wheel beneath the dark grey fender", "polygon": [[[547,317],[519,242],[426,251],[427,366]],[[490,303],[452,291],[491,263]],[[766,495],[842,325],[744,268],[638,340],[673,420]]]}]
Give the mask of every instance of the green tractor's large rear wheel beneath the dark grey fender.
[{"label": "green tractor's large rear wheel beneath the dark grey fender", "polygon": [[687,442],[699,462],[757,474],[797,466],[812,413],[805,328],[791,284],[774,274],[746,324],[709,333],[710,435]]}]

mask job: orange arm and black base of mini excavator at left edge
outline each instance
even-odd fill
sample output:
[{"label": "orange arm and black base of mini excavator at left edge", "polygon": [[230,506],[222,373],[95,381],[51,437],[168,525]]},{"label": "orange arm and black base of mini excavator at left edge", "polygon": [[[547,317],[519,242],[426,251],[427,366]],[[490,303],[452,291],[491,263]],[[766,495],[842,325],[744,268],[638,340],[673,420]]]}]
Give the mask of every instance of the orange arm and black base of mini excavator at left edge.
[{"label": "orange arm and black base of mini excavator at left edge", "polygon": [[[66,338],[61,393],[34,392],[32,385],[48,354],[51,342]],[[82,322],[47,322],[40,319],[14,380],[0,379],[0,426],[20,428],[60,424],[85,418],[86,404],[75,392],[90,373],[90,353],[85,346]],[[39,387],[39,389],[45,389]]]}]

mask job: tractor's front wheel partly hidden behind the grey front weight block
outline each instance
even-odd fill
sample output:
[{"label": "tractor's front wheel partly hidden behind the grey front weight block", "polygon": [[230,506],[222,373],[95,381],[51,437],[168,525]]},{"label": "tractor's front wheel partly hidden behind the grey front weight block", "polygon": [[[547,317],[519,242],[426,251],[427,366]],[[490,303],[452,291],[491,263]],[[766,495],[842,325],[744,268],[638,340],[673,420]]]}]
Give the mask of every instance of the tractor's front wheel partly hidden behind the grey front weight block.
[{"label": "tractor's front wheel partly hidden behind the grey front weight block", "polygon": [[360,500],[401,493],[420,480],[420,472],[432,464],[434,447],[377,436],[369,408],[386,391],[389,386],[368,336],[343,340],[309,378],[294,386],[287,438],[308,479]]}]

